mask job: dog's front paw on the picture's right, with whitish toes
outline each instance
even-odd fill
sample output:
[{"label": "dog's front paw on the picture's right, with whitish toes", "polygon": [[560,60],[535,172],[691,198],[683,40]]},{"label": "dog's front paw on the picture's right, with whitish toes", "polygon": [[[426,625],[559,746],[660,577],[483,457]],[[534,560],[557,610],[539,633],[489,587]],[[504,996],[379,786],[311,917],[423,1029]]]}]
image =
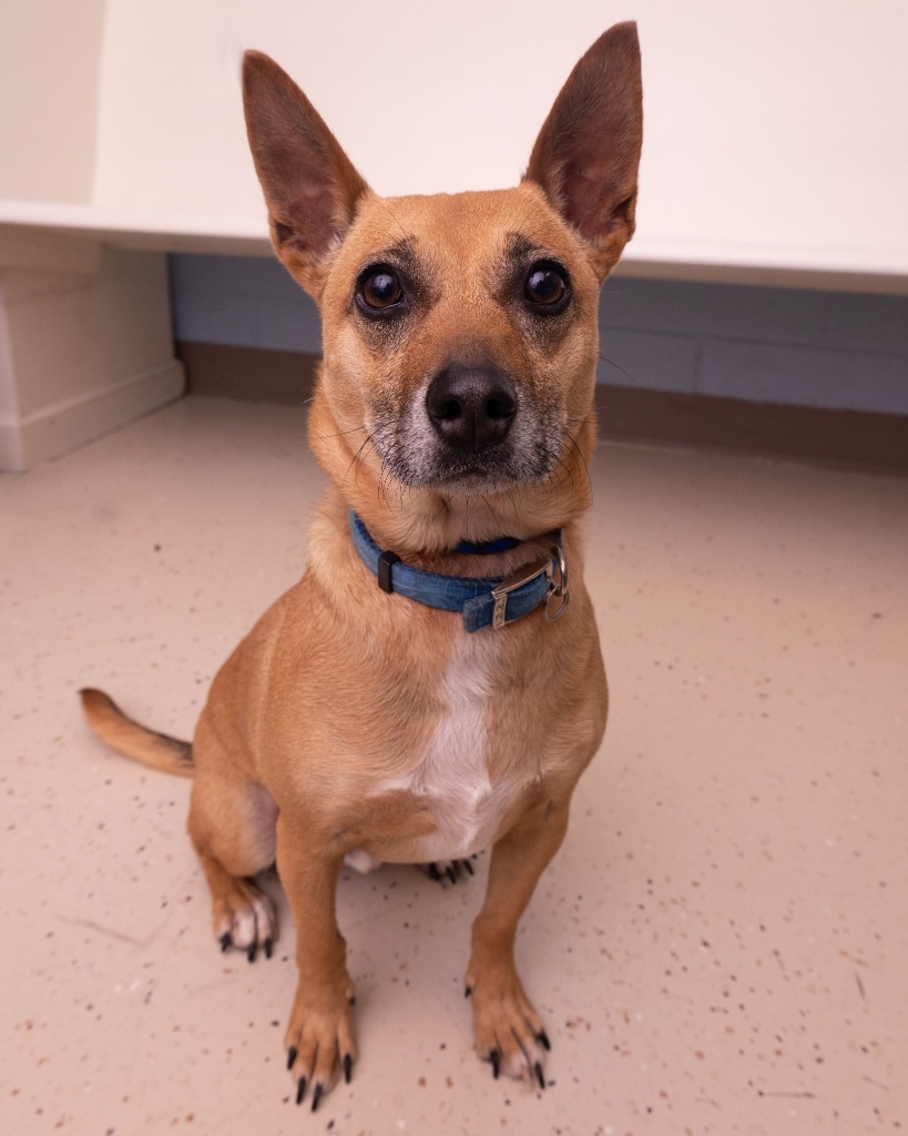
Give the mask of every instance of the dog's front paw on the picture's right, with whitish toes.
[{"label": "dog's front paw on the picture's right, with whitish toes", "polygon": [[476,1051],[491,1064],[493,1076],[545,1088],[545,1055],[552,1046],[516,974],[468,974],[466,995],[473,1003]]}]

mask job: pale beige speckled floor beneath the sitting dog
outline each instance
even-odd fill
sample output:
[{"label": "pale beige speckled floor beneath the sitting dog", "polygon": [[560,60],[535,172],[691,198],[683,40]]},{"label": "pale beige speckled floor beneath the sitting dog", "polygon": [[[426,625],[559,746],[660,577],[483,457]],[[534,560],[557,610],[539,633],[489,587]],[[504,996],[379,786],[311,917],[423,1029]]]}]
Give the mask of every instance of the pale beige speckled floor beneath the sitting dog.
[{"label": "pale beige speckled floor beneath the sitting dog", "polygon": [[187,783],[106,751],[75,696],[190,734],[301,571],[302,417],[190,399],[0,479],[3,1131],[908,1127],[908,483],[627,446],[594,477],[613,712],[519,941],[550,1085],[471,1052],[482,861],[446,889],[385,868],[340,887],[362,1058],[314,1116],[287,920],[270,962],[219,954]]}]

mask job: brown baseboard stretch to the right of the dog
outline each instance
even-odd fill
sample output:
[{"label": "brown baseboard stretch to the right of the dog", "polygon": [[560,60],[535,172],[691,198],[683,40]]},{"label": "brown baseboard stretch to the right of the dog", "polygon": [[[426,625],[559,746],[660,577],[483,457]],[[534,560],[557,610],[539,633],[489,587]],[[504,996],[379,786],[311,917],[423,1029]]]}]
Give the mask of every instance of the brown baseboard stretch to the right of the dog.
[{"label": "brown baseboard stretch to the right of the dog", "polygon": [[600,436],[743,450],[798,461],[908,473],[908,417],[675,394],[596,392]]}]

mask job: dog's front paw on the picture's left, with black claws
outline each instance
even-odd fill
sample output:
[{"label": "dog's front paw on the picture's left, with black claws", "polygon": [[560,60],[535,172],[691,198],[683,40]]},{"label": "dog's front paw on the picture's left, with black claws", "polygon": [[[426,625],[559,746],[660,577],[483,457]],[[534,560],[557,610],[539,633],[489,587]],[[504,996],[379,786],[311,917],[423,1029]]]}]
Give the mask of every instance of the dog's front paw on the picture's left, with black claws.
[{"label": "dog's front paw on the picture's left, with black claws", "polygon": [[356,1034],[353,1026],[353,983],[326,989],[318,983],[300,983],[291,1011],[284,1045],[287,1069],[296,1086],[296,1103],[310,1093],[312,1111],[343,1075],[350,1084],[356,1060]]}]

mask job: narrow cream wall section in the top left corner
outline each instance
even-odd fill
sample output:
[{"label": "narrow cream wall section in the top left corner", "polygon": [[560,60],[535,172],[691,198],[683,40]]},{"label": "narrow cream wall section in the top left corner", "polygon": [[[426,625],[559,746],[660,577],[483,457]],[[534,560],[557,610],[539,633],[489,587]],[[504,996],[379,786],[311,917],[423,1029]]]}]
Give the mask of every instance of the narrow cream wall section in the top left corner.
[{"label": "narrow cream wall section in the top left corner", "polygon": [[104,8],[0,2],[0,198],[91,199]]}]

